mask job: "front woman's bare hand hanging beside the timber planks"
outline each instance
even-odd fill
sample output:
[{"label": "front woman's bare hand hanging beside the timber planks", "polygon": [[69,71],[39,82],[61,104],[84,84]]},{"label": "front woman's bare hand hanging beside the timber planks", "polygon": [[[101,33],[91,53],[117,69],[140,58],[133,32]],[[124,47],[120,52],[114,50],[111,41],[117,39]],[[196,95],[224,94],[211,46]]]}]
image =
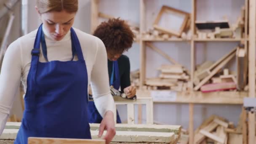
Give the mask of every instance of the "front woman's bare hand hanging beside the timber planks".
[{"label": "front woman's bare hand hanging beside the timber planks", "polygon": [[104,118],[99,125],[99,137],[102,136],[104,130],[107,130],[104,139],[106,140],[106,144],[109,144],[115,136],[115,120],[112,111],[107,111],[105,113]]}]

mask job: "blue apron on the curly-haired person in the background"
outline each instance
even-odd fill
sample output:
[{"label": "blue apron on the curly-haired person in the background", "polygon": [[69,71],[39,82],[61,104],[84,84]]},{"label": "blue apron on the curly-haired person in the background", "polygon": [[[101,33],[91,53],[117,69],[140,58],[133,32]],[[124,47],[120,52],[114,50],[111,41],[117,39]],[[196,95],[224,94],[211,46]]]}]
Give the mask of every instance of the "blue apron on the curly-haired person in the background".
[{"label": "blue apron on the curly-haired person in the background", "polygon": [[[115,73],[115,81],[114,81],[114,73]],[[115,89],[119,89],[120,87],[120,77],[119,77],[119,69],[117,61],[113,61],[112,73],[110,78],[110,85],[113,85]],[[88,103],[88,121],[89,123],[101,123],[102,117],[99,114],[95,104],[93,101],[89,101]],[[117,112],[117,123],[122,123],[120,116]]]}]

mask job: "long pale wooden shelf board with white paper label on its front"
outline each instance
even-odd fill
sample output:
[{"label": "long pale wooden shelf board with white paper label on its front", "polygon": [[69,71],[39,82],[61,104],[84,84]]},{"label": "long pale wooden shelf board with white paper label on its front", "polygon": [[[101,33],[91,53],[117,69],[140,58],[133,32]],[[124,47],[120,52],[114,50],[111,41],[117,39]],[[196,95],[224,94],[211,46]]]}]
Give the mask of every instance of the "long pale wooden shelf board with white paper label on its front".
[{"label": "long pale wooden shelf board with white paper label on its front", "polygon": [[[137,91],[139,97],[151,96],[150,91]],[[194,104],[243,104],[243,98],[248,97],[248,92],[219,91],[202,93],[201,91],[176,92],[174,101],[154,101],[154,103],[194,103]]]}]

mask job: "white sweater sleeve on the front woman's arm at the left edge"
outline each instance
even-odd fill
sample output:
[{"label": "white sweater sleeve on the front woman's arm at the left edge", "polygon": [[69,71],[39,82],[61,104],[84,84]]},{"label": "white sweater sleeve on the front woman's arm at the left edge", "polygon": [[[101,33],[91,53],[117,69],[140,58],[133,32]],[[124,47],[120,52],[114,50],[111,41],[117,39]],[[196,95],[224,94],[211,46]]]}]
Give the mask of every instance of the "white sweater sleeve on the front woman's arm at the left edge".
[{"label": "white sweater sleeve on the front woman's arm at the left edge", "polygon": [[19,40],[7,49],[0,73],[0,134],[3,133],[21,80],[21,51]]}]

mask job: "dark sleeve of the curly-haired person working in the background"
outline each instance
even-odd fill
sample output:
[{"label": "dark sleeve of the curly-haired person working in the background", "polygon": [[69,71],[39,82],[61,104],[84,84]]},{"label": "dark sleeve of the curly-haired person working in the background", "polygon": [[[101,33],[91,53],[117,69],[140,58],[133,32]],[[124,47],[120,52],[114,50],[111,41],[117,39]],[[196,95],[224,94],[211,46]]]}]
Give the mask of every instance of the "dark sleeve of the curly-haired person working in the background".
[{"label": "dark sleeve of the curly-haired person working in the background", "polygon": [[121,75],[121,78],[120,78],[120,86],[121,86],[121,91],[123,92],[124,88],[131,85],[130,60],[127,56],[125,56],[125,59],[123,59],[122,67],[124,68],[124,72],[123,72],[123,75]]}]

